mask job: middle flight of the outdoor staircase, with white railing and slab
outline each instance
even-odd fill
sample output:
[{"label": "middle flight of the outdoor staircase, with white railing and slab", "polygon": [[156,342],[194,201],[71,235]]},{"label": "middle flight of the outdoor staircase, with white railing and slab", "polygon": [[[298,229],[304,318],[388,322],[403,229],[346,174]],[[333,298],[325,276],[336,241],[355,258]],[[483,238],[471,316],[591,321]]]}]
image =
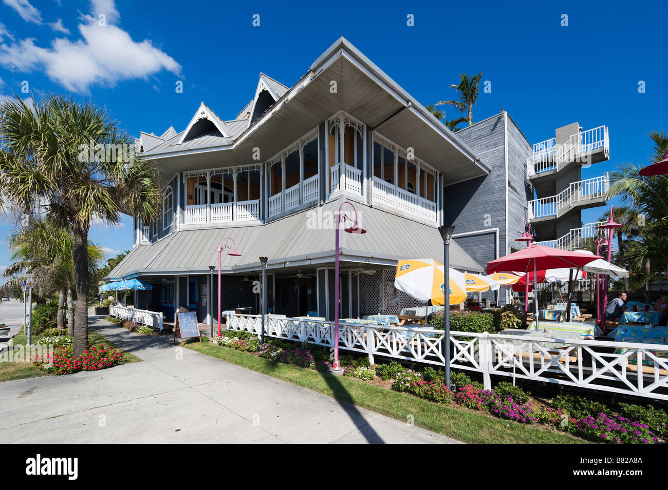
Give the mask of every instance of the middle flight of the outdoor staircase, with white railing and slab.
[{"label": "middle flight of the outdoor staircase, with white railing and slab", "polygon": [[572,182],[557,195],[529,201],[528,219],[532,223],[562,217],[573,209],[604,205],[610,188],[608,174]]}]

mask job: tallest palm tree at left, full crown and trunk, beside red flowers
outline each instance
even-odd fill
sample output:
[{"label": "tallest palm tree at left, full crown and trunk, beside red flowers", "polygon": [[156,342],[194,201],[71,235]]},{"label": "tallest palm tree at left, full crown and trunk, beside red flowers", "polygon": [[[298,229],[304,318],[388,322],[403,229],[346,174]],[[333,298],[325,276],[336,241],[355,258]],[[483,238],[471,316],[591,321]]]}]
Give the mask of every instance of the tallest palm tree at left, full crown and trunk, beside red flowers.
[{"label": "tallest palm tree at left, full crown and trunk, beside red flowers", "polygon": [[[134,139],[106,109],[60,95],[33,99],[32,105],[16,97],[0,107],[0,195],[7,197],[3,206],[27,214],[45,210],[72,233],[78,356],[88,348],[90,222],[97,217],[118,223],[126,213],[150,223],[159,215],[160,188],[154,169],[130,153]],[[113,155],[87,151],[93,145]]]}]

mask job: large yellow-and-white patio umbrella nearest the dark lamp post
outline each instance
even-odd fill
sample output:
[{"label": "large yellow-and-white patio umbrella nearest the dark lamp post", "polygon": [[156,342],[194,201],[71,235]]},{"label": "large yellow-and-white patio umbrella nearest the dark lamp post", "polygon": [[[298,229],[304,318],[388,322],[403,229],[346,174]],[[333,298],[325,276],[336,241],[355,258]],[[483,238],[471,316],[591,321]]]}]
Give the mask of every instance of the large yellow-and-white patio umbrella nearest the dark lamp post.
[{"label": "large yellow-and-white patio umbrella nearest the dark lamp post", "polygon": [[[432,259],[409,259],[397,262],[394,286],[426,303],[444,305],[443,264]],[[460,271],[450,269],[450,304],[466,301],[466,280]]]}]

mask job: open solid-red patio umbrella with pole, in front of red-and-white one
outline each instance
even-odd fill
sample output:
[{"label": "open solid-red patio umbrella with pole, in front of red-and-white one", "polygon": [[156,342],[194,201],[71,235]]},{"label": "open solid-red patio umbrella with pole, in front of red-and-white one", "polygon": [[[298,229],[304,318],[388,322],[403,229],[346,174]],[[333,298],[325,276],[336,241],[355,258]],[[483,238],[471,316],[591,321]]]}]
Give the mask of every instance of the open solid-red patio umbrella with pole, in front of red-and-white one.
[{"label": "open solid-red patio umbrella with pole, in front of red-and-white one", "polygon": [[[526,249],[513,252],[487,263],[486,273],[522,271],[534,273],[534,289],[538,285],[538,271],[546,269],[581,269],[598,255],[584,255],[568,250],[553,249],[532,243]],[[534,301],[536,322],[538,322],[538,301]]]}]

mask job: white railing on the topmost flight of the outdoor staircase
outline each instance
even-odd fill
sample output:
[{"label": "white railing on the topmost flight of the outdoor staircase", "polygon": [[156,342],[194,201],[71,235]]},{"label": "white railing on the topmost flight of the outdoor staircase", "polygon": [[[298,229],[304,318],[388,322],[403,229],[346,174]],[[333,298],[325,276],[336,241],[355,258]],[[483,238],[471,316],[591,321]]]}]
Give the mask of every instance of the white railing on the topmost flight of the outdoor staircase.
[{"label": "white railing on the topmost flight of the outdoor staircase", "polygon": [[589,163],[589,153],[599,150],[605,152],[606,158],[609,157],[610,139],[606,126],[576,133],[562,145],[556,145],[554,138],[536,143],[534,155],[526,160],[527,177],[550,170],[558,171],[573,161]]}]

